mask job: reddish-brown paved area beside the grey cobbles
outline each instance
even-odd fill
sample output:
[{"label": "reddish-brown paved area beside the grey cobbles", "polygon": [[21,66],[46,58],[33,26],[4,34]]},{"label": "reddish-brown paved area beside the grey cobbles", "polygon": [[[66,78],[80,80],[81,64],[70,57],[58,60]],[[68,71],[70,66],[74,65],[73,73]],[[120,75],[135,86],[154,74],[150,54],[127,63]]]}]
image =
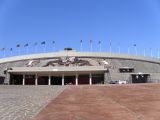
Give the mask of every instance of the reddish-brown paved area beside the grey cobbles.
[{"label": "reddish-brown paved area beside the grey cobbles", "polygon": [[70,86],[34,120],[159,120],[160,84]]}]

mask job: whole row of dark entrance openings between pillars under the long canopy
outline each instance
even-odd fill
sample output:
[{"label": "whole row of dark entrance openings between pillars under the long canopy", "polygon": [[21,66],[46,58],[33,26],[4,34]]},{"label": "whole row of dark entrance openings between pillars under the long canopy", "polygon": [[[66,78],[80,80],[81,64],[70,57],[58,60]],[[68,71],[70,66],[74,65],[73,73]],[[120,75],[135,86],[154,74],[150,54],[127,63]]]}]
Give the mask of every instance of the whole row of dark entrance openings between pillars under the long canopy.
[{"label": "whole row of dark entrance openings between pillars under the long canopy", "polygon": [[11,85],[92,85],[104,84],[104,73],[88,74],[10,74]]}]

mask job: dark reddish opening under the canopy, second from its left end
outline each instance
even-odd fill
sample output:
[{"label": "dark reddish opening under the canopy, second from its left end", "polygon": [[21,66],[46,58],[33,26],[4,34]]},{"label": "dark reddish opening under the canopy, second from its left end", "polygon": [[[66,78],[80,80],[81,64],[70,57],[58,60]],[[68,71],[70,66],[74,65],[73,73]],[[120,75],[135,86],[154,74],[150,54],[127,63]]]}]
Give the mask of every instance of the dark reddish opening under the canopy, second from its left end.
[{"label": "dark reddish opening under the canopy, second from its left end", "polygon": [[25,75],[25,85],[35,85],[35,75]]}]

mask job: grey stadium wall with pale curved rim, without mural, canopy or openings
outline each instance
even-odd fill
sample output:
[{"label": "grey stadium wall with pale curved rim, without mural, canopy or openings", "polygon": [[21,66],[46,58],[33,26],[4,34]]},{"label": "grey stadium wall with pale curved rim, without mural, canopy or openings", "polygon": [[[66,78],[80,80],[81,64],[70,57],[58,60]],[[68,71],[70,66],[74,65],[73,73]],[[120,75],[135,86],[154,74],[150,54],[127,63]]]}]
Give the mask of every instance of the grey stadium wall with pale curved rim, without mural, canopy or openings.
[{"label": "grey stadium wall with pale curved rim, without mural, canopy or openings", "polygon": [[[110,80],[127,80],[130,82],[130,73],[120,73],[120,67],[132,67],[134,73],[148,73],[150,74],[151,82],[160,82],[160,61],[158,59],[146,58],[141,56],[130,56],[110,53],[82,53],[82,52],[57,52],[46,54],[35,54],[17,56],[11,58],[0,59],[0,75],[6,76],[4,70],[9,67],[26,67],[26,63],[30,60],[39,60],[39,63],[33,67],[42,67],[47,62],[57,59],[58,57],[80,57],[90,61],[93,66],[104,66],[103,60],[108,62],[109,74],[105,73],[105,83]],[[100,64],[99,64],[100,63]]]}]

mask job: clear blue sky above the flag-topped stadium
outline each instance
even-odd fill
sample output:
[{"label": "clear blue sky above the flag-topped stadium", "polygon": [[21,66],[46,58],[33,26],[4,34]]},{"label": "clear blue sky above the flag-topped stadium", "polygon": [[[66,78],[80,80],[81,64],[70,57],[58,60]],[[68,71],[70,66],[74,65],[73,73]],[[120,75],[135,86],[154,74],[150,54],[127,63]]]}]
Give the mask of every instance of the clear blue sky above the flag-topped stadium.
[{"label": "clear blue sky above the flag-topped stadium", "polygon": [[[89,40],[93,40],[93,51],[98,51],[98,41],[102,51],[112,50],[127,53],[128,45],[134,54],[137,44],[139,54],[157,55],[160,49],[160,0],[0,0],[0,48],[13,48],[17,54],[17,44],[38,42],[37,50],[42,52],[42,41],[46,41],[47,51],[52,51],[55,41],[56,51],[64,47],[89,51]],[[25,53],[20,48],[21,54]],[[6,55],[9,56],[9,50]],[[0,57],[3,52],[0,52]]]}]

